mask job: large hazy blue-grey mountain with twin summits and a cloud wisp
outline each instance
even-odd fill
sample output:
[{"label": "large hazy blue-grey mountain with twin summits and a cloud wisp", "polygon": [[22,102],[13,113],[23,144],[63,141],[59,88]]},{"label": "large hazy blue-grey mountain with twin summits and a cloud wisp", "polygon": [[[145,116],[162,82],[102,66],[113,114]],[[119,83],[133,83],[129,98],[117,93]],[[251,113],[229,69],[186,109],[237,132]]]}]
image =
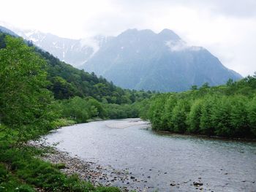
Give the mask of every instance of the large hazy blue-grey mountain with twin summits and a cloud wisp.
[{"label": "large hazy blue-grey mountain with twin summits and a cloud wisp", "polygon": [[122,88],[185,91],[192,85],[221,85],[241,75],[203,47],[188,46],[169,29],[129,29],[103,45],[84,64]]}]

